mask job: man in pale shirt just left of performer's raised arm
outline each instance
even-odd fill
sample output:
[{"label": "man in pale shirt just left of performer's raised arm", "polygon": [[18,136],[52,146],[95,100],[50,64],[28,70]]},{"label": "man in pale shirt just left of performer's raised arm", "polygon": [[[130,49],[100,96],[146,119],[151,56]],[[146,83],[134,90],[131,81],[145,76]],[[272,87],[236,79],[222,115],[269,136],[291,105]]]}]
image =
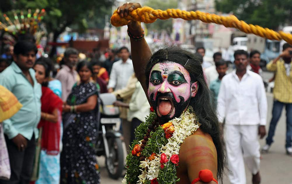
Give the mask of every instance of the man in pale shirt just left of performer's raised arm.
[{"label": "man in pale shirt just left of performer's raised arm", "polygon": [[132,60],[129,59],[130,52],[127,47],[119,49],[121,60],[112,65],[112,71],[109,76],[108,92],[126,87],[129,78],[134,73]]}]

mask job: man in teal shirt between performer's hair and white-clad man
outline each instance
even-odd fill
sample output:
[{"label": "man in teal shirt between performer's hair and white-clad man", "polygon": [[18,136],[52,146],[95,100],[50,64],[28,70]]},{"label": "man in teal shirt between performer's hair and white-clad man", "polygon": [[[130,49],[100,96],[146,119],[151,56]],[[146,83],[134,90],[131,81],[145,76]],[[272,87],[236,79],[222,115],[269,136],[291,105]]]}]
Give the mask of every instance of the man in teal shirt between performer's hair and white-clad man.
[{"label": "man in teal shirt between performer's hair and white-clad man", "polygon": [[220,61],[215,63],[215,66],[216,66],[216,71],[219,74],[219,77],[216,80],[211,81],[210,91],[211,91],[211,93],[213,93],[214,105],[216,108],[221,80],[226,75],[226,71],[228,69],[228,64],[226,61],[220,60]]}]

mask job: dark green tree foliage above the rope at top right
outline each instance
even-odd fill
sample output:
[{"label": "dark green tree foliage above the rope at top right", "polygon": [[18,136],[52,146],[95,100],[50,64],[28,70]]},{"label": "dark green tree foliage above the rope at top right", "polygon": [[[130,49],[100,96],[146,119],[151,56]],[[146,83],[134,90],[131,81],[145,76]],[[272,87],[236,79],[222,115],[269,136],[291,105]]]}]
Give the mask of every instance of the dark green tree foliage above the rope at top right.
[{"label": "dark green tree foliage above the rope at top right", "polygon": [[217,11],[232,12],[248,24],[278,29],[292,24],[292,0],[215,0]]}]

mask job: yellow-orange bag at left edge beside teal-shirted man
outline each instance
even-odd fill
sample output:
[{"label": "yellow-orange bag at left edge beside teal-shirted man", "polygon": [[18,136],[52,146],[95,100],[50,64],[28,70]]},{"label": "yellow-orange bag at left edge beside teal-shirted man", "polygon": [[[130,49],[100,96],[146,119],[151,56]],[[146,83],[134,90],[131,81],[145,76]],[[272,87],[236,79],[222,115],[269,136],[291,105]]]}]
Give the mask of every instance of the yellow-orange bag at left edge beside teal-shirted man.
[{"label": "yellow-orange bag at left edge beside teal-shirted man", "polygon": [[21,107],[14,94],[0,85],[0,122],[11,118]]}]

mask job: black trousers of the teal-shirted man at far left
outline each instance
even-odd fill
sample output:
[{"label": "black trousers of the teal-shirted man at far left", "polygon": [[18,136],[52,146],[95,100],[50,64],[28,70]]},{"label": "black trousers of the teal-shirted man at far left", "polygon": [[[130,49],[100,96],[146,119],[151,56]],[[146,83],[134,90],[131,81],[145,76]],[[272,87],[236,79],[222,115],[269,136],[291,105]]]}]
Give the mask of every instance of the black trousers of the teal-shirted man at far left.
[{"label": "black trousers of the teal-shirted man at far left", "polygon": [[9,162],[11,167],[10,180],[0,180],[0,184],[29,184],[36,152],[36,141],[34,135],[27,140],[24,151],[18,151],[18,147],[5,135]]}]

